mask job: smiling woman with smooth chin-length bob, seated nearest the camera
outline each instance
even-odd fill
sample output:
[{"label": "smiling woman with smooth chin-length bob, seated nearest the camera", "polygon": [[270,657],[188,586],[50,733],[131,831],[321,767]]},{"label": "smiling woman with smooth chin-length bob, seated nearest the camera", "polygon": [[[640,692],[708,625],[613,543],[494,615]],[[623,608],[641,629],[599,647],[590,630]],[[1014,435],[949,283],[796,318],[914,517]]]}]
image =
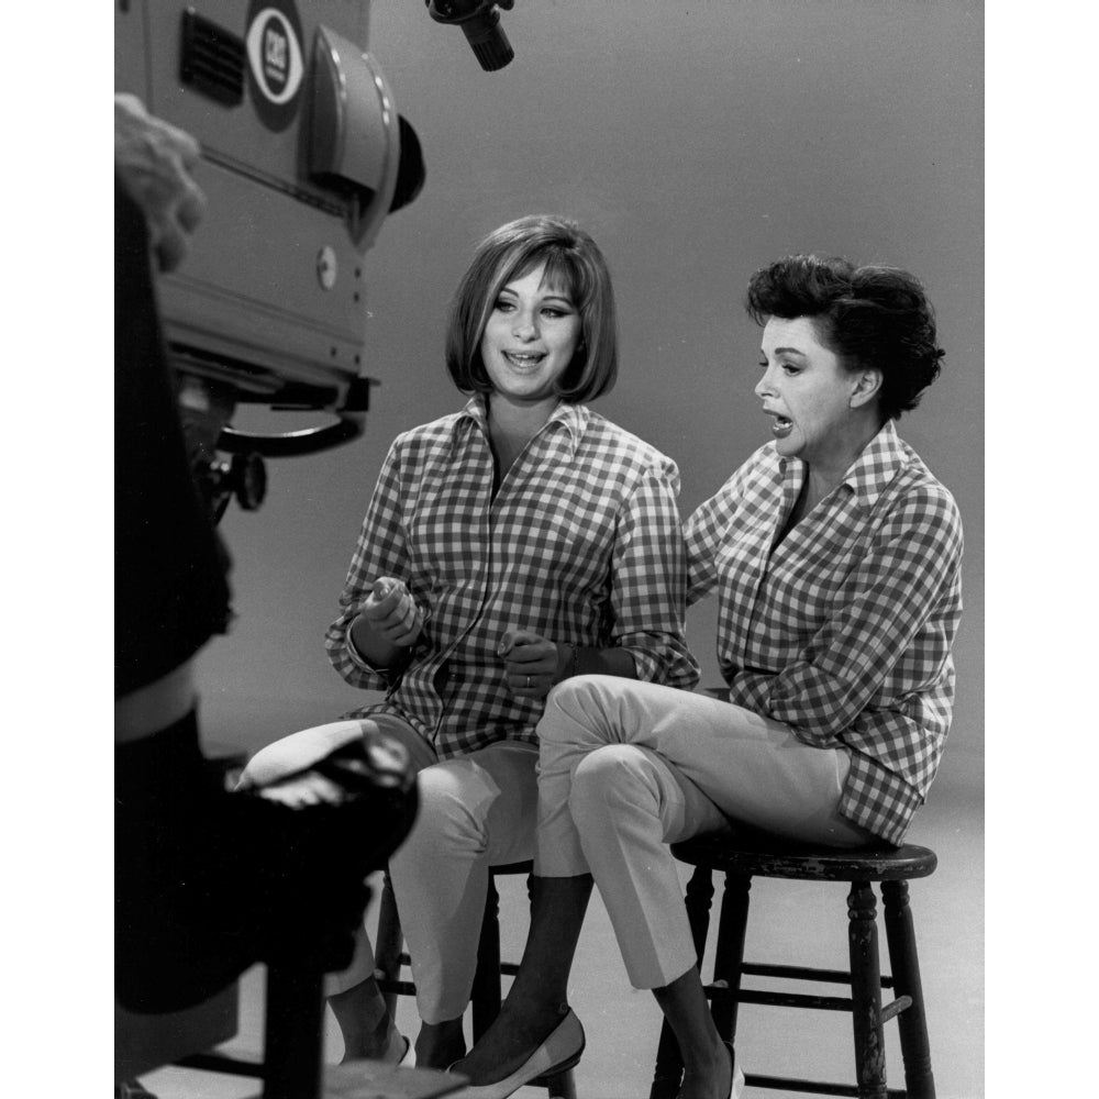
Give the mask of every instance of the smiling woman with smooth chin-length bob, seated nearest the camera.
[{"label": "smiling woman with smooth chin-length bob, seated nearest the camera", "polygon": [[[533,854],[535,725],[580,673],[691,687],[679,475],[581,401],[618,369],[610,274],[575,223],[491,233],[458,287],[446,365],[473,398],[390,447],[325,640],[384,702],[269,745],[270,781],[370,729],[408,747],[420,814],[390,859],[420,1065],[465,1052],[489,867]],[[349,1056],[404,1050],[365,937],[330,1003]]]}]

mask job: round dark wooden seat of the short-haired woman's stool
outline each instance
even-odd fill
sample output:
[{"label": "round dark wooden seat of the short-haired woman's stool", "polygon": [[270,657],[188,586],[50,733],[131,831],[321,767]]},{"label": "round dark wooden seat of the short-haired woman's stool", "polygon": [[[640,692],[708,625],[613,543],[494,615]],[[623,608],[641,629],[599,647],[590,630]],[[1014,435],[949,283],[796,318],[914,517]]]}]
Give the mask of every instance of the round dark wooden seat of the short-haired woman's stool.
[{"label": "round dark wooden seat of the short-haired woman's stool", "polygon": [[674,843],[671,853],[682,863],[725,874],[810,881],[901,881],[925,878],[939,865],[933,851],[912,843],[902,847],[825,847],[740,825],[731,832],[710,832]]}]

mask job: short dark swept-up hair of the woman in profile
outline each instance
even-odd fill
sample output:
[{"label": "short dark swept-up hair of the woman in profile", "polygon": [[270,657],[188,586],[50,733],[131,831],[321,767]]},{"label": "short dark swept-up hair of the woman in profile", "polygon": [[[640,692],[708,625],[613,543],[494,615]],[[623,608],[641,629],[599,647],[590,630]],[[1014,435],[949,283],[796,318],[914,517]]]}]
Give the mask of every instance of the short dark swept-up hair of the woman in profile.
[{"label": "short dark swept-up hair of the woman in profile", "polygon": [[848,369],[880,370],[884,420],[914,409],[939,377],[945,352],[934,310],[919,279],[899,267],[788,256],[752,276],[745,308],[757,324],[770,317],[812,318]]}]

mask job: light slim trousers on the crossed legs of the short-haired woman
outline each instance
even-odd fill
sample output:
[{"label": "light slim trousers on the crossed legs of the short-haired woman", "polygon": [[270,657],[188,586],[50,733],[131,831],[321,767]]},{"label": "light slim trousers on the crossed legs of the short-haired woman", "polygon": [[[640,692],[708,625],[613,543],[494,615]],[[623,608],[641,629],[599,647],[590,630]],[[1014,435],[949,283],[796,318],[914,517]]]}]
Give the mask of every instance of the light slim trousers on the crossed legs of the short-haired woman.
[{"label": "light slim trousers on the crossed legs of the short-haired woman", "polygon": [[534,873],[590,873],[635,988],[696,963],[668,844],[728,828],[725,814],[837,847],[870,833],[839,812],[844,748],[703,695],[611,676],[555,687],[539,723]]}]

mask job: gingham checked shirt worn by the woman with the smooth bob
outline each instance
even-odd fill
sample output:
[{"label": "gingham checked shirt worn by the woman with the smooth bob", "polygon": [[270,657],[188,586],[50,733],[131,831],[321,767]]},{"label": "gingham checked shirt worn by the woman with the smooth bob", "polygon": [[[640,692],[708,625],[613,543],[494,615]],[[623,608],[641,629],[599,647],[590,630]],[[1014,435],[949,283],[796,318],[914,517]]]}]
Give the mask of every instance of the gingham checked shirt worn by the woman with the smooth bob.
[{"label": "gingham checked shirt worn by the woman with the smooth bob", "polygon": [[[558,404],[492,497],[486,407],[399,435],[390,447],[325,648],[352,686],[388,689],[440,758],[493,741],[536,743],[543,702],[515,698],[496,654],[508,629],[620,646],[639,678],[690,688],[679,473],[584,406]],[[379,675],[349,644],[378,576],[404,580],[426,614],[409,665]]]}]

